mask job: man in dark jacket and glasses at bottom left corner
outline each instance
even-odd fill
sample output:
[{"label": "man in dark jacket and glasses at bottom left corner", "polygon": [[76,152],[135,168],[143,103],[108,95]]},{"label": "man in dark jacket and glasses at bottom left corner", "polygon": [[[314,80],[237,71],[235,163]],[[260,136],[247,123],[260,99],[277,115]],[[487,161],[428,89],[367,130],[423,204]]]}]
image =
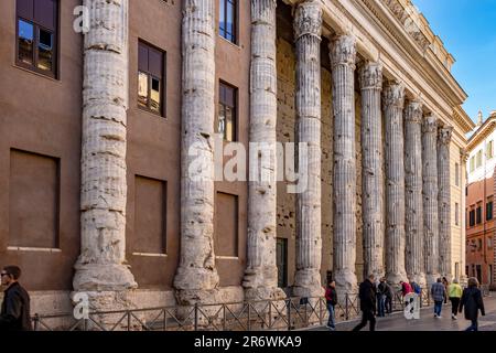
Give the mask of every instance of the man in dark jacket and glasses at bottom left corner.
[{"label": "man in dark jacket and glasses at bottom left corner", "polygon": [[21,269],[6,266],[1,271],[3,301],[0,311],[0,331],[31,331],[30,296],[18,282]]}]

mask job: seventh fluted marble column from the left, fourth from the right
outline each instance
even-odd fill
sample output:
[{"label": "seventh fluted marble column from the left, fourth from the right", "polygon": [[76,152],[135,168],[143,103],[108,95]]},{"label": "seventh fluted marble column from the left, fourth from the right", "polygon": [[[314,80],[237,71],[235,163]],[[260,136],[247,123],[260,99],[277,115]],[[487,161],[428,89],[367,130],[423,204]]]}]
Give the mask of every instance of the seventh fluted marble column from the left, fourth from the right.
[{"label": "seventh fluted marble column from the left, fourth from the right", "polygon": [[407,280],[405,270],[405,87],[389,84],[382,95],[386,127],[386,277]]}]

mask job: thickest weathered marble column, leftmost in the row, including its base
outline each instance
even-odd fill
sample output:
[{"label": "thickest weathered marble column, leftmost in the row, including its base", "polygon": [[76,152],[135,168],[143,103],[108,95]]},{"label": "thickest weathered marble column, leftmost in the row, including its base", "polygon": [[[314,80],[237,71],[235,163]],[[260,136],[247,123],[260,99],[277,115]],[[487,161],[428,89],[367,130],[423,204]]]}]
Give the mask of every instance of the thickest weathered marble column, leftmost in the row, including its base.
[{"label": "thickest weathered marble column, leftmost in the row, including its base", "polygon": [[105,310],[126,308],[126,290],[137,287],[126,263],[128,1],[84,4],[91,30],[84,39],[82,248],[73,286]]}]

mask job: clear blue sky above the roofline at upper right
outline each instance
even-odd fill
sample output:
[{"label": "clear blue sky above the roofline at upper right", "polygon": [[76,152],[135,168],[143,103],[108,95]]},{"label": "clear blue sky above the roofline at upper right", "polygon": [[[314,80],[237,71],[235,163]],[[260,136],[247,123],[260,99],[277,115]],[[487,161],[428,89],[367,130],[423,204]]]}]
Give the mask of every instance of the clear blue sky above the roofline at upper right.
[{"label": "clear blue sky above the roofline at upper right", "polygon": [[496,0],[413,0],[432,31],[455,57],[452,73],[468,94],[466,113],[476,120],[496,110]]}]

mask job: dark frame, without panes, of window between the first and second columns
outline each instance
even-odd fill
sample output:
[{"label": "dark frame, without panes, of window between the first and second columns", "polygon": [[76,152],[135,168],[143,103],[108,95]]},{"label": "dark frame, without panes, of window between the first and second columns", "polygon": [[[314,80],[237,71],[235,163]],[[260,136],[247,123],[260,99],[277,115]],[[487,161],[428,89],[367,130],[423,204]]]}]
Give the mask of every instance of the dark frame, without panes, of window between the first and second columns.
[{"label": "dark frame, without panes, of window between the first and second columns", "polygon": [[[158,51],[158,52],[160,52],[162,54],[162,77],[157,77],[157,75],[150,73],[150,71],[145,72],[145,71],[142,71],[140,68],[140,45],[145,46],[148,50],[151,49],[151,50]],[[155,115],[158,117],[161,117],[161,118],[166,118],[166,99],[165,99],[165,97],[166,97],[166,88],[165,87],[166,87],[166,81],[168,81],[166,61],[168,61],[168,55],[166,55],[166,52],[164,50],[161,50],[160,47],[158,47],[158,46],[155,46],[155,45],[153,45],[153,44],[151,44],[151,43],[149,43],[149,42],[147,42],[147,41],[144,41],[142,39],[138,39],[138,61],[137,61],[137,64],[138,64],[138,68],[137,68],[138,86],[137,86],[137,90],[136,90],[136,94],[137,94],[137,106],[138,106],[138,109],[147,111],[147,113],[150,113],[150,114],[153,114],[153,115]],[[139,100],[139,92],[138,92],[138,89],[139,89],[140,73],[143,73],[143,74],[147,75],[147,84],[148,84],[148,90],[147,90],[148,105],[147,105],[147,107],[142,106],[140,104],[140,100]],[[159,109],[159,111],[153,110],[150,107],[151,106],[152,79],[153,78],[158,78],[159,82],[160,82],[160,100],[161,101],[160,101],[160,109]]]}]

